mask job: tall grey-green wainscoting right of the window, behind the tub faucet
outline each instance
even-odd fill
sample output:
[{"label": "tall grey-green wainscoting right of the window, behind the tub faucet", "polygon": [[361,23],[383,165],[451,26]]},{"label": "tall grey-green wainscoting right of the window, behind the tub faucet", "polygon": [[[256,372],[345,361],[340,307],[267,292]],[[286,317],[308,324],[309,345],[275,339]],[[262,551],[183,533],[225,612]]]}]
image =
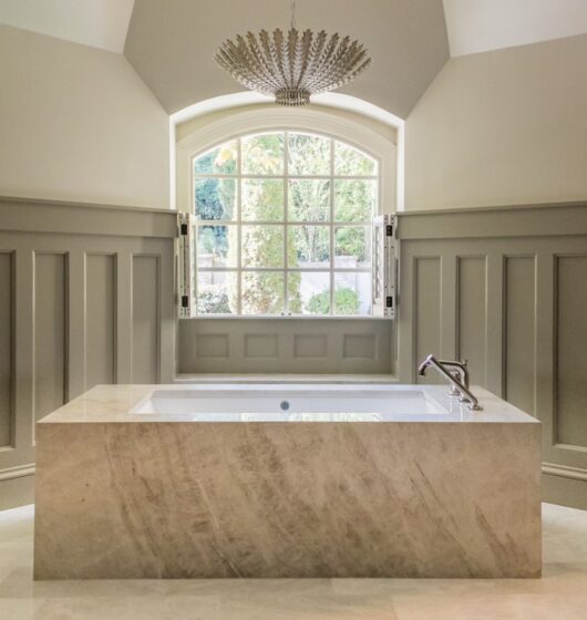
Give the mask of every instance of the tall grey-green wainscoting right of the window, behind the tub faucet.
[{"label": "tall grey-green wainscoting right of the window, behind the tub faucet", "polygon": [[545,499],[587,509],[587,205],[403,214],[398,234],[399,381],[467,359],[542,421]]}]

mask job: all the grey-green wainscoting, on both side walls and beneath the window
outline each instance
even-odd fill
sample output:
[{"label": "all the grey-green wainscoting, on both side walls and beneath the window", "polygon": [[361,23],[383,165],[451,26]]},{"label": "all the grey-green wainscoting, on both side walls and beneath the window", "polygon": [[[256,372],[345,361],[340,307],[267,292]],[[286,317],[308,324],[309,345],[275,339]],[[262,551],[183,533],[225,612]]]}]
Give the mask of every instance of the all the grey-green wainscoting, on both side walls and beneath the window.
[{"label": "all the grey-green wainscoting, on both side walls and beneath the window", "polygon": [[[34,421],[175,378],[175,214],[0,199],[0,509]],[[183,373],[393,373],[434,352],[543,422],[545,499],[587,509],[587,204],[399,216],[399,319],[182,320]],[[433,374],[426,381],[437,381]]]}]

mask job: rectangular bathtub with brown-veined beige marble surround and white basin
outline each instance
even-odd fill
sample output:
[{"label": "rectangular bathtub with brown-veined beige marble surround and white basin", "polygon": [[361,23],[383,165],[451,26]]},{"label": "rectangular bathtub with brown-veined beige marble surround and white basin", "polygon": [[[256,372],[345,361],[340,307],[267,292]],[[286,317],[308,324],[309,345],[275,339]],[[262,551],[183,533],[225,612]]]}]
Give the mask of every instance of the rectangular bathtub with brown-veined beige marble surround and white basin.
[{"label": "rectangular bathtub with brown-veined beige marble surround and white basin", "polygon": [[96,386],[37,424],[34,577],[538,577],[539,424],[475,393]]}]

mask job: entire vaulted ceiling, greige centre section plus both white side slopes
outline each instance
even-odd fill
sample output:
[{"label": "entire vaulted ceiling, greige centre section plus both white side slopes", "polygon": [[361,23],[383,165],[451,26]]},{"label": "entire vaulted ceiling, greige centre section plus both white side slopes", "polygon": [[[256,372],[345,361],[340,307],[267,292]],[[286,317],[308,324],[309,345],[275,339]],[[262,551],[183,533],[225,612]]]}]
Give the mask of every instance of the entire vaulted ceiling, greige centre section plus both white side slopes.
[{"label": "entire vaulted ceiling, greige centre section plus both white side slopes", "polygon": [[[288,28],[290,0],[0,0],[0,23],[123,52],[165,110],[241,90],[216,66],[237,32]],[[405,117],[450,55],[587,32],[587,0],[297,0],[299,28],[360,39],[341,92]]]}]

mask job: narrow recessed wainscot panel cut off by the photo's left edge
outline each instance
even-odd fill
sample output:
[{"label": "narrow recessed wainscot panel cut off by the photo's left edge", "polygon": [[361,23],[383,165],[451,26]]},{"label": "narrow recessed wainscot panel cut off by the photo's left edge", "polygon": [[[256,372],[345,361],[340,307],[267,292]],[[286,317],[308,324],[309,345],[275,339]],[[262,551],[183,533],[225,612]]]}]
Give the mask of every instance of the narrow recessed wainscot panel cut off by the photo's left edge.
[{"label": "narrow recessed wainscot panel cut off by the photo's left edge", "polygon": [[0,254],[0,447],[12,440],[13,255]]}]

